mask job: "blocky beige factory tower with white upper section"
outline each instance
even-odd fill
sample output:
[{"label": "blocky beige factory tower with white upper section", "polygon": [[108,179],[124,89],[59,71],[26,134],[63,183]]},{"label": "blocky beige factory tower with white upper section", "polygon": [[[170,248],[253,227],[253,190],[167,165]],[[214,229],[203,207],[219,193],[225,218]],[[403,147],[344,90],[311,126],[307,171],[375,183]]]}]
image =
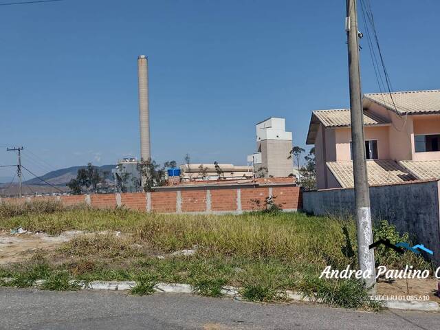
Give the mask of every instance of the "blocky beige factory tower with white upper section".
[{"label": "blocky beige factory tower with white upper section", "polygon": [[292,132],[285,130],[285,118],[271,117],[256,124],[256,153],[248,155],[256,177],[287,177],[294,172]]}]

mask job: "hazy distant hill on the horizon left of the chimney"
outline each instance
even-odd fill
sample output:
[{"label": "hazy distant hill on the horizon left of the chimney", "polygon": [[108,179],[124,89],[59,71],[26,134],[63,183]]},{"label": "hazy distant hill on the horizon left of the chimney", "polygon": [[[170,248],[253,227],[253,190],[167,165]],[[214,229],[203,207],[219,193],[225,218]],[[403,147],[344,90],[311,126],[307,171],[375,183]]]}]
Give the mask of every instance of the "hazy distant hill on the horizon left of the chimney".
[{"label": "hazy distant hill on the horizon left of the chimney", "polygon": [[[49,182],[50,184],[53,184],[54,186],[65,186],[71,179],[76,178],[76,173],[78,173],[78,170],[80,168],[86,168],[87,166],[72,166],[68,168],[61,168],[60,170],[52,170],[52,172],[49,172],[45,175],[41,176],[41,179]],[[99,168],[101,173],[106,173],[105,179],[113,181],[112,175],[111,175],[111,169],[115,168],[115,165],[102,165],[102,166],[95,166]],[[43,181],[40,179],[34,177],[34,179],[30,179],[28,181],[24,182],[27,185],[35,185],[35,186],[43,186],[46,185]]]}]

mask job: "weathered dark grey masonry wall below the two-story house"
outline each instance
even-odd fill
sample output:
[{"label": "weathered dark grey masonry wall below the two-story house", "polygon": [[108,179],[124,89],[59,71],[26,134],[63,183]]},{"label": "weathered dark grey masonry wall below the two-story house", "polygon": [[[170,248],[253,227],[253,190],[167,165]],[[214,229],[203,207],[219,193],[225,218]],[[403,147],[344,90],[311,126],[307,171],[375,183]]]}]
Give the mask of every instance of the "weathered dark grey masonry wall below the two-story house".
[{"label": "weathered dark grey masonry wall below the two-story house", "polygon": [[[413,243],[434,251],[434,262],[440,265],[439,181],[371,187],[370,199],[374,221],[386,219],[399,232],[408,232]],[[354,190],[303,192],[303,210],[316,215],[354,216]]]}]

